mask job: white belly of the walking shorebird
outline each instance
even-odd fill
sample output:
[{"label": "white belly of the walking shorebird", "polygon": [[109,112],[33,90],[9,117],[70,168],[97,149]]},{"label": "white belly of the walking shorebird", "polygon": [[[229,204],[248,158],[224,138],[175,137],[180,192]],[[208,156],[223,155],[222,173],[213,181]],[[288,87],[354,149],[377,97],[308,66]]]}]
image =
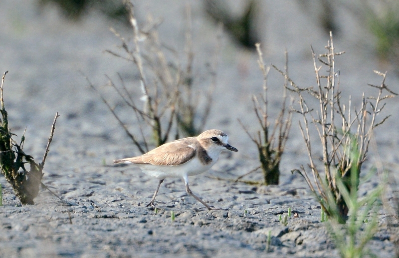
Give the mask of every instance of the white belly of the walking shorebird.
[{"label": "white belly of the walking shorebird", "polygon": [[212,160],[207,165],[203,165],[198,158],[194,158],[178,166],[156,166],[150,164],[135,164],[147,175],[159,180],[167,177],[183,177],[184,175],[195,176],[209,170],[217,160]]}]

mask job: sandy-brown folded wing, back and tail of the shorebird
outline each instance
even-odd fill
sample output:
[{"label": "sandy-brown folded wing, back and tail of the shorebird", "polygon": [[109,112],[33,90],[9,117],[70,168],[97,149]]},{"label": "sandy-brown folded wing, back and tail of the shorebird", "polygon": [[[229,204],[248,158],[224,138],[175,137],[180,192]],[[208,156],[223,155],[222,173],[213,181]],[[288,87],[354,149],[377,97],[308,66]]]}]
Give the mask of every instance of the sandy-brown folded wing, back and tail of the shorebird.
[{"label": "sandy-brown folded wing, back and tail of the shorebird", "polygon": [[114,163],[131,162],[158,166],[177,166],[188,162],[197,153],[195,137],[176,140],[155,148],[141,156],[115,160]]}]

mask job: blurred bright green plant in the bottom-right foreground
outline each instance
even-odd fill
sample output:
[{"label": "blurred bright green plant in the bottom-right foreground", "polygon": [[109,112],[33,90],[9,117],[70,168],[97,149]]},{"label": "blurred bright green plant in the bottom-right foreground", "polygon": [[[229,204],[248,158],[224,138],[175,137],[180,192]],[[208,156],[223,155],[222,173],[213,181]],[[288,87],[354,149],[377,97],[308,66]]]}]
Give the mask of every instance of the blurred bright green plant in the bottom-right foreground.
[{"label": "blurred bright green plant in the bottom-right foreground", "polygon": [[[351,159],[359,159],[361,153],[357,148],[356,139],[353,139],[348,148],[348,155]],[[370,191],[364,197],[358,196],[359,182],[365,179],[359,178],[358,168],[352,166],[353,171],[350,174],[348,189],[347,182],[342,177],[336,177],[337,188],[340,191],[345,203],[348,204],[349,216],[344,225],[341,223],[340,207],[336,204],[333,192],[328,192],[327,198],[330,203],[330,220],[327,222],[327,229],[333,237],[337,249],[342,258],[361,258],[370,252],[367,249],[368,242],[373,238],[378,228],[377,212],[381,208],[381,194],[383,184],[380,184],[373,191]],[[340,172],[337,169],[337,173]],[[371,172],[373,173],[373,171]],[[369,179],[371,175],[366,177]]]}]

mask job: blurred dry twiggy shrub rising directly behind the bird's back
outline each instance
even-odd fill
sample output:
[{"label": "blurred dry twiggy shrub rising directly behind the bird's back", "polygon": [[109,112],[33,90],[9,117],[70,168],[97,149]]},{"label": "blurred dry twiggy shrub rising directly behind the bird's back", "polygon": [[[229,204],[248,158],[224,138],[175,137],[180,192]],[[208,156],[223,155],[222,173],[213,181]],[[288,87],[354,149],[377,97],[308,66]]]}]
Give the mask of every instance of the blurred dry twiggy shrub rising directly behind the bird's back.
[{"label": "blurred dry twiggy shrub rising directly behind the bird's back", "polygon": [[[100,94],[103,102],[123,127],[126,134],[132,139],[139,151],[146,153],[149,151],[149,145],[152,144],[152,142],[148,142],[147,140],[149,131],[152,132],[151,136],[156,146],[166,143],[171,137],[175,139],[180,138],[179,129],[184,134],[190,136],[200,133],[210,112],[212,102],[211,93],[216,85],[215,70],[217,57],[210,68],[210,72],[213,74],[211,76],[212,80],[206,94],[204,107],[201,106],[205,111],[200,115],[198,112],[200,98],[194,87],[195,79],[192,71],[194,52],[191,39],[190,7],[187,7],[187,67],[186,70],[183,70],[179,60],[168,59],[169,56],[177,56],[177,52],[170,47],[166,47],[160,41],[157,31],[159,23],[151,16],[148,16],[147,24],[143,26],[146,29],[141,30],[138,27],[133,5],[130,1],[124,1],[124,3],[129,12],[133,28],[134,46],[130,47],[130,42],[117,31],[112,30],[120,38],[122,42],[121,49],[125,53],[113,50],[106,51],[135,64],[139,71],[140,87],[138,88],[141,89],[142,96],[140,99],[137,99],[137,94],[133,93],[135,90],[126,86],[120,75],[121,86],[117,86],[110,78],[108,78],[108,85],[115,89],[125,105],[132,109],[132,113],[140,125],[139,135],[129,130],[112,104],[88,79],[87,81],[90,87]],[[125,56],[126,54],[127,57]],[[140,107],[137,101],[142,102],[143,106]]]}]

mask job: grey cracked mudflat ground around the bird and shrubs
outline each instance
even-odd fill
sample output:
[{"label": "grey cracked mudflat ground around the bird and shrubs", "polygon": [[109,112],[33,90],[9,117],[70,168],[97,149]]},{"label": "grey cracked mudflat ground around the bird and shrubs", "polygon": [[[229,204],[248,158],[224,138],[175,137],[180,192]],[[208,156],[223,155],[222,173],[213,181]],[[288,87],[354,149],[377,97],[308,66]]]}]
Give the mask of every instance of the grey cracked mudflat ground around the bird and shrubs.
[{"label": "grey cracked mudflat ground around the bird and shrubs", "polygon": [[[256,53],[238,47],[222,34],[217,87],[205,129],[221,129],[238,153],[223,153],[209,171],[191,177],[191,189],[205,202],[220,207],[207,211],[185,192],[183,180],[166,179],[157,196],[157,213],[145,207],[157,186],[134,166],[113,166],[112,160],[139,155],[138,150],[88,87],[84,73],[108,99],[120,104],[117,111],[133,132],[138,127],[130,109],[106,86],[105,75],[137,85],[134,65],[104,53],[120,44],[109,26],[110,20],[91,12],[80,22],[66,20],[51,6],[39,11],[36,2],[1,2],[0,71],[9,70],[4,100],[11,130],[18,136],[25,127],[25,152],[42,158],[56,112],[60,117],[46,161],[43,182],[67,203],[42,190],[35,205],[21,206],[11,187],[0,178],[3,206],[0,207],[1,257],[338,257],[325,225],[320,223],[320,206],[310,195],[305,181],[291,175],[291,169],[306,164],[307,154],[297,127],[293,126],[281,162],[279,186],[256,186],[231,180],[256,168],[257,150],[237,122],[257,129],[251,95],[261,92],[262,75]],[[189,1],[193,10],[195,74],[198,85],[206,86],[206,63],[212,61],[217,29],[199,1]],[[139,21],[148,13],[162,17],[160,38],[184,54],[185,2],[135,1]],[[238,9],[237,9],[238,10]],[[258,26],[265,62],[284,66],[289,53],[289,71],[299,85],[314,85],[310,44],[323,53],[328,33],[304,10],[299,1],[264,1],[259,6]],[[347,53],[336,60],[341,89],[359,101],[359,92],[371,92],[367,83],[378,84],[373,69],[388,70],[387,83],[398,91],[399,78],[389,65],[373,53],[373,37],[353,14],[339,9],[341,26],[336,37],[338,51]],[[131,31],[115,25],[126,37]],[[201,84],[201,81],[202,82]],[[269,76],[270,113],[281,104],[283,79]],[[382,160],[397,163],[398,101],[389,100],[393,116],[376,133]],[[370,155],[368,167],[375,161]],[[254,173],[248,180],[261,180]],[[361,187],[365,194],[376,186],[373,180]],[[286,226],[278,215],[288,208],[297,213]],[[246,211],[246,212],[245,212]],[[171,212],[175,220],[171,220]],[[387,228],[387,211],[379,214],[380,227],[369,248],[379,257],[394,257],[394,245]],[[267,235],[271,232],[269,250]],[[269,252],[267,252],[269,251]]]}]

